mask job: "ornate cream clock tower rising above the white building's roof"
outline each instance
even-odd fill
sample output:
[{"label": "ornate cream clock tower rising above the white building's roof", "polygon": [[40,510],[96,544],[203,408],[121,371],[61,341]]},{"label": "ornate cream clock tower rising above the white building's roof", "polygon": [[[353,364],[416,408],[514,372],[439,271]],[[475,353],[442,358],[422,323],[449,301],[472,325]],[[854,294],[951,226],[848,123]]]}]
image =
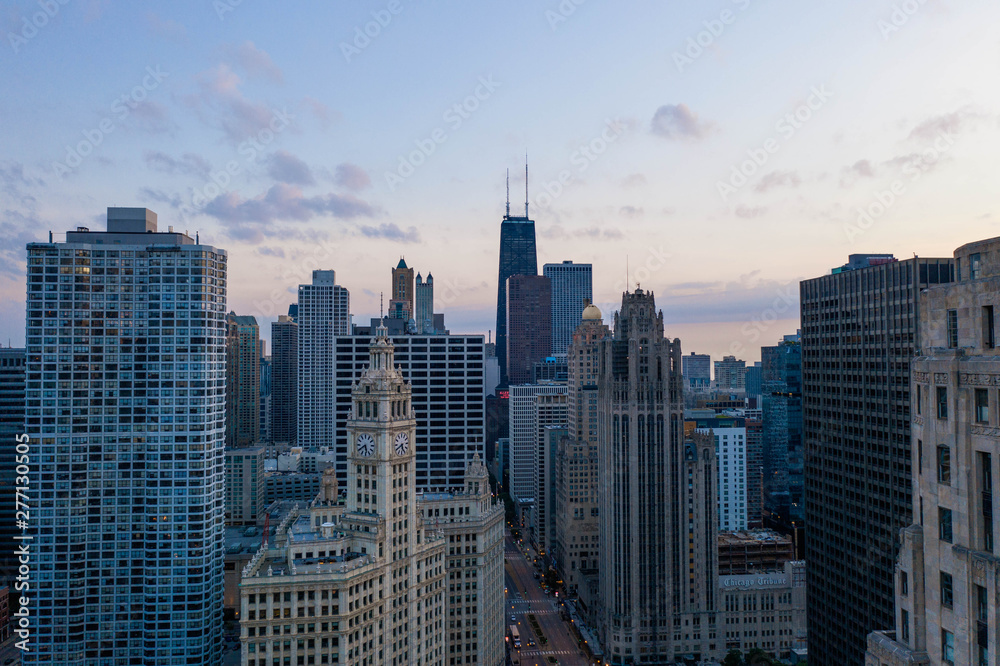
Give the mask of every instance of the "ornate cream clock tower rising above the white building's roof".
[{"label": "ornate cream clock tower rising above the white building's roof", "polygon": [[345,518],[381,518],[378,550],[397,560],[416,543],[416,420],[411,386],[395,366],[385,326],[376,330],[368,353],[368,367],[351,387]]}]

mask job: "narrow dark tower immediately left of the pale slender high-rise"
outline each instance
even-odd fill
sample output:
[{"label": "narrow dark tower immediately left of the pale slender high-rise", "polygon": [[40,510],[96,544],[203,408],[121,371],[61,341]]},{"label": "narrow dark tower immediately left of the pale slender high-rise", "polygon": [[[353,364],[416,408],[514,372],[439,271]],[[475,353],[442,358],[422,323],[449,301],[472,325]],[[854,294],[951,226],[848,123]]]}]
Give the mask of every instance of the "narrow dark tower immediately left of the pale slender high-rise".
[{"label": "narrow dark tower immediately left of the pale slender high-rise", "polygon": [[286,315],[271,322],[271,441],[294,442],[298,420],[299,325]]}]

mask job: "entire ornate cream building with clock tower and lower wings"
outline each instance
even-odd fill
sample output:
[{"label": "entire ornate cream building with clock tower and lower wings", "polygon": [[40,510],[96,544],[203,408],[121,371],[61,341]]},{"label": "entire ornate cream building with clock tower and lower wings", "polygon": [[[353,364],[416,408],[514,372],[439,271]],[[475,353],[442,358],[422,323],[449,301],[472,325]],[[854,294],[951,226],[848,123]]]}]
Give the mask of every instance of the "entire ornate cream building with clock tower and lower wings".
[{"label": "entire ornate cream building with clock tower and lower wings", "polygon": [[[316,501],[289,514],[243,570],[244,665],[443,666],[457,663],[459,639],[461,654],[478,658],[463,663],[501,663],[502,620],[483,609],[502,608],[502,527],[493,525],[502,523],[502,506],[477,460],[462,492],[418,505],[415,429],[410,384],[380,327],[369,367],[352,387],[346,497],[324,474]],[[446,509],[455,524],[425,521],[424,506]],[[475,542],[466,542],[472,534]],[[458,536],[463,548],[481,552],[454,557]]]}]

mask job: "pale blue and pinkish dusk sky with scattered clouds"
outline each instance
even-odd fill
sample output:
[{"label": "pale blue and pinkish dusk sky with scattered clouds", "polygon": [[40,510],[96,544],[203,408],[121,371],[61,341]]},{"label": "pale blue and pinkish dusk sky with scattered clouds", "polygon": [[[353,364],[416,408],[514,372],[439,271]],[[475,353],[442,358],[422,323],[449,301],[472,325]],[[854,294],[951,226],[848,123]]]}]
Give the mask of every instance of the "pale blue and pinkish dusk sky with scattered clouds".
[{"label": "pale blue and pinkish dusk sky with scattered clouds", "polygon": [[[852,253],[1000,235],[995,0],[15,0],[0,7],[0,340],[25,244],[108,206],[229,252],[262,334],[315,268],[364,323],[400,257],[495,328],[510,171],[544,263],[760,358]],[[386,297],[388,302],[388,297]]]}]

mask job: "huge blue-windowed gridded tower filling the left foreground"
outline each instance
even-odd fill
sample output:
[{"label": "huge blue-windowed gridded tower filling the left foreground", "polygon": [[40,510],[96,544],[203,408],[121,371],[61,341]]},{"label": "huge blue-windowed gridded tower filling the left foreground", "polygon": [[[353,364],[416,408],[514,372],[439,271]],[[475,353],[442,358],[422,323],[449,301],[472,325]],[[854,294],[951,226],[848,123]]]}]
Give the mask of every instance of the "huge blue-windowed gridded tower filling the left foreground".
[{"label": "huge blue-windowed gridded tower filling the left foreground", "polygon": [[29,664],[222,663],[226,260],[144,208],[28,245]]}]

